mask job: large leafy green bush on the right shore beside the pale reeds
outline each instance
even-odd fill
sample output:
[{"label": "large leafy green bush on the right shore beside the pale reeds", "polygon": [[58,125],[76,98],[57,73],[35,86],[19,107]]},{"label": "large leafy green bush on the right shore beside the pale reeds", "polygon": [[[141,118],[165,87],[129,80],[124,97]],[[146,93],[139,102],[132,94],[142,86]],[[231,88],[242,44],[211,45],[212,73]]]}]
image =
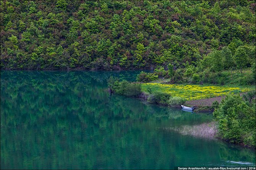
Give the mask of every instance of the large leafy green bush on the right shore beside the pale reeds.
[{"label": "large leafy green bush on the right shore beside the pale reeds", "polygon": [[255,147],[255,102],[248,106],[239,95],[228,95],[213,112],[219,136],[232,143]]}]

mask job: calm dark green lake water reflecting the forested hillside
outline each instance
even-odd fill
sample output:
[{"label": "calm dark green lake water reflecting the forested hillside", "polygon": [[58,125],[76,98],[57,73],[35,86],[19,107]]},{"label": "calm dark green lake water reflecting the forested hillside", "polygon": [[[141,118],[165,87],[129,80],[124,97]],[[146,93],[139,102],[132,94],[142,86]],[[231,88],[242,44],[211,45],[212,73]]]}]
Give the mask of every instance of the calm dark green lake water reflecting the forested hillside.
[{"label": "calm dark green lake water reflecting the forested hillside", "polygon": [[138,71],[1,71],[1,169],[255,166],[255,150],[168,132],[211,114],[110,96],[110,75]]}]

